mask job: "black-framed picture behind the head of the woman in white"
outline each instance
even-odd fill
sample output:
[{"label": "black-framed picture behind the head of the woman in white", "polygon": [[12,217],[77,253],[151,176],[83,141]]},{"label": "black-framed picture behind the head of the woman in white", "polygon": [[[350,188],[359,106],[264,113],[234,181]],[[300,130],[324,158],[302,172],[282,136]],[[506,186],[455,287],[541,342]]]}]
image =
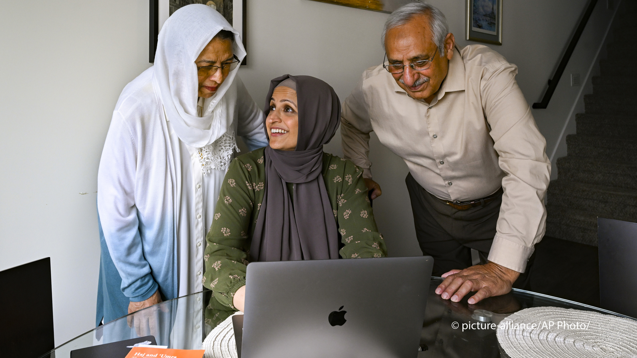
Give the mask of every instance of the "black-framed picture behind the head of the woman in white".
[{"label": "black-framed picture behind the head of the woman in white", "polygon": [[[243,47],[247,48],[247,0],[149,0],[149,2],[150,19],[148,24],[150,25],[150,36],[148,36],[148,62],[155,62],[157,37],[164,22],[166,22],[168,17],[173,15],[176,10],[190,4],[204,4],[219,11],[225,20],[228,20],[230,25],[239,31]],[[247,63],[247,60],[244,58],[241,65],[246,65]]]}]

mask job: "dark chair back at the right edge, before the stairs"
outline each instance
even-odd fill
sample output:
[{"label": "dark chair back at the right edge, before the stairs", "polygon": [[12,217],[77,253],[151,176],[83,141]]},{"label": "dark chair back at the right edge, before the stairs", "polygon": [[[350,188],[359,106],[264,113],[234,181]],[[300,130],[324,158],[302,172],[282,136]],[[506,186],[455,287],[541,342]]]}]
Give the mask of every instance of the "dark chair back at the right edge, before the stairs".
[{"label": "dark chair back at the right edge, before the stairs", "polygon": [[637,318],[637,223],[598,218],[601,308]]}]

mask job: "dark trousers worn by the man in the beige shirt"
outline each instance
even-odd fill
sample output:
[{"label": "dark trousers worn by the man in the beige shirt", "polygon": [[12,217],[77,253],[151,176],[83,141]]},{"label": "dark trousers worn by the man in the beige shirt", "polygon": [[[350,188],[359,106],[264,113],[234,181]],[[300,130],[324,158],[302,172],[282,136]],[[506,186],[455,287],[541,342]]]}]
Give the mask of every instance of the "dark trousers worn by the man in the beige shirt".
[{"label": "dark trousers worn by the man in the beige shirt", "polygon": [[[485,205],[457,210],[423,189],[409,173],[405,178],[412,201],[416,238],[422,254],[434,258],[434,276],[441,276],[452,269],[472,266],[471,249],[477,250],[480,263],[487,263],[489,250],[496,235],[502,194]],[[475,198],[479,199],[479,198]],[[528,289],[528,278],[533,255],[527,268],[513,287]]]}]

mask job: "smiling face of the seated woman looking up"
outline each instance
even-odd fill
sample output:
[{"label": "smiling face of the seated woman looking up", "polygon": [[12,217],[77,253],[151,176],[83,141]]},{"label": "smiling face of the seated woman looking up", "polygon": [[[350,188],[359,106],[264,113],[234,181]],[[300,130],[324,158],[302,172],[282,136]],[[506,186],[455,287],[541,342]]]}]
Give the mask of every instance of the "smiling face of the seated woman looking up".
[{"label": "smiling face of the seated woman looking up", "polygon": [[299,133],[299,111],[296,91],[290,87],[276,87],[270,99],[270,111],[266,128],[270,147],[278,150],[295,150]]}]

